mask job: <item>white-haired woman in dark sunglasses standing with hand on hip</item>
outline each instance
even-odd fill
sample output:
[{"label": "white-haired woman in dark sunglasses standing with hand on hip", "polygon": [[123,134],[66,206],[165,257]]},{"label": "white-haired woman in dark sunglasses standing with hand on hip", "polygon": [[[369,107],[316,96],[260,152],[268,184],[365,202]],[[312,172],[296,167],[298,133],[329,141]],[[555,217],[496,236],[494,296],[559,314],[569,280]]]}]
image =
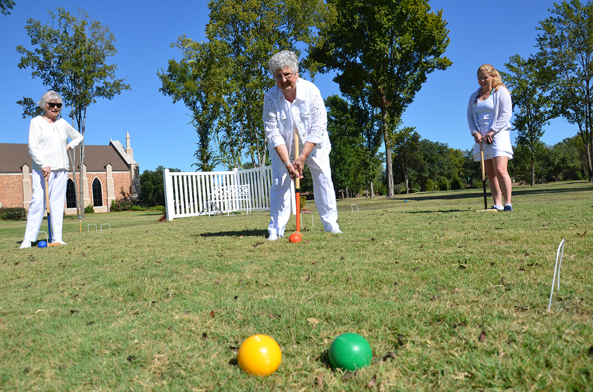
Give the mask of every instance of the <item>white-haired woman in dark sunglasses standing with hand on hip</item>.
[{"label": "white-haired woman in dark sunglasses standing with hand on hip", "polygon": [[[52,213],[52,242],[62,241],[62,220],[68,184],[68,150],[82,142],[82,135],[63,118],[62,98],[55,91],[48,91],[37,102],[43,114],[31,118],[29,125],[29,154],[33,159],[31,184],[33,194],[27,214],[27,227],[21,249],[29,248],[37,239],[45,203],[45,179],[49,182],[49,207]],[[68,138],[72,139],[68,143]]]}]

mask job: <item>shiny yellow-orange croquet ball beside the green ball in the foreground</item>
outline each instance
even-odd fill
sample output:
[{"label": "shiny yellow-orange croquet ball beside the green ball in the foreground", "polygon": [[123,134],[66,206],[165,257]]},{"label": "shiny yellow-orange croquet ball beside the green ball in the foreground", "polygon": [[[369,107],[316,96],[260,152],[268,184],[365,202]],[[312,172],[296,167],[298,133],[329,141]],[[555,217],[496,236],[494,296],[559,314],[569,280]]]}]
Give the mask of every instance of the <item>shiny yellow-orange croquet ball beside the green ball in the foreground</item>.
[{"label": "shiny yellow-orange croquet ball beside the green ball in the foreground", "polygon": [[253,335],[239,347],[237,362],[249,374],[262,377],[275,372],[282,361],[282,352],[276,340],[267,335]]}]

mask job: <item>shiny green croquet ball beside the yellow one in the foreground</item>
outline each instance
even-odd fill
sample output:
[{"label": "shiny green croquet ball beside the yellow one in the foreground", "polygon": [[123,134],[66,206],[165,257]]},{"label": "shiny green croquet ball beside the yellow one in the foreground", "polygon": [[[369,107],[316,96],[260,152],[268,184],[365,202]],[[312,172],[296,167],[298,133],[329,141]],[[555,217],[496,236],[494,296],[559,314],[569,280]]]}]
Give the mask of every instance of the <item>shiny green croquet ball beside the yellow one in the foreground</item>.
[{"label": "shiny green croquet ball beside the yellow one in the foreground", "polygon": [[331,367],[355,371],[371,364],[371,345],[358,333],[343,333],[331,342]]}]

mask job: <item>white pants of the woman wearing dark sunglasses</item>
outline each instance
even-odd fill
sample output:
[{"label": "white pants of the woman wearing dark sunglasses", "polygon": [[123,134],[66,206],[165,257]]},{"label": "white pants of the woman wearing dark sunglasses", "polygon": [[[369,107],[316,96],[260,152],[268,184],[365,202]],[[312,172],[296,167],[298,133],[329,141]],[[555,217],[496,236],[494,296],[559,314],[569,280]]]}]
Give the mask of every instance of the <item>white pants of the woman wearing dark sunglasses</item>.
[{"label": "white pants of the woman wearing dark sunglasses", "polygon": [[[45,179],[42,171],[31,173],[33,183],[33,197],[27,214],[27,228],[25,240],[34,242],[41,228],[45,213]],[[66,185],[68,172],[65,170],[52,171],[49,175],[49,212],[52,221],[52,242],[62,240],[62,221],[64,219],[64,203],[66,201]]]}]

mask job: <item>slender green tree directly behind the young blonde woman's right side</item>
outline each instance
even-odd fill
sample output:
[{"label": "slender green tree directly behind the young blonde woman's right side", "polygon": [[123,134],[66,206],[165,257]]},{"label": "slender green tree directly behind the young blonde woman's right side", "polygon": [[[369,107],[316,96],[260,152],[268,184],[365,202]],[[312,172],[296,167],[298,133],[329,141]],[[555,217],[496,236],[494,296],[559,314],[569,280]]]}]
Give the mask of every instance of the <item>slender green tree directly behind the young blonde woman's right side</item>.
[{"label": "slender green tree directly behind the young blonde woman's right side", "polygon": [[531,56],[527,60],[518,54],[505,64],[509,73],[501,73],[512,89],[515,118],[513,126],[517,130],[517,143],[527,147],[531,154],[531,186],[535,186],[535,156],[543,151],[544,126],[557,117],[553,105],[552,75],[541,56]]}]

